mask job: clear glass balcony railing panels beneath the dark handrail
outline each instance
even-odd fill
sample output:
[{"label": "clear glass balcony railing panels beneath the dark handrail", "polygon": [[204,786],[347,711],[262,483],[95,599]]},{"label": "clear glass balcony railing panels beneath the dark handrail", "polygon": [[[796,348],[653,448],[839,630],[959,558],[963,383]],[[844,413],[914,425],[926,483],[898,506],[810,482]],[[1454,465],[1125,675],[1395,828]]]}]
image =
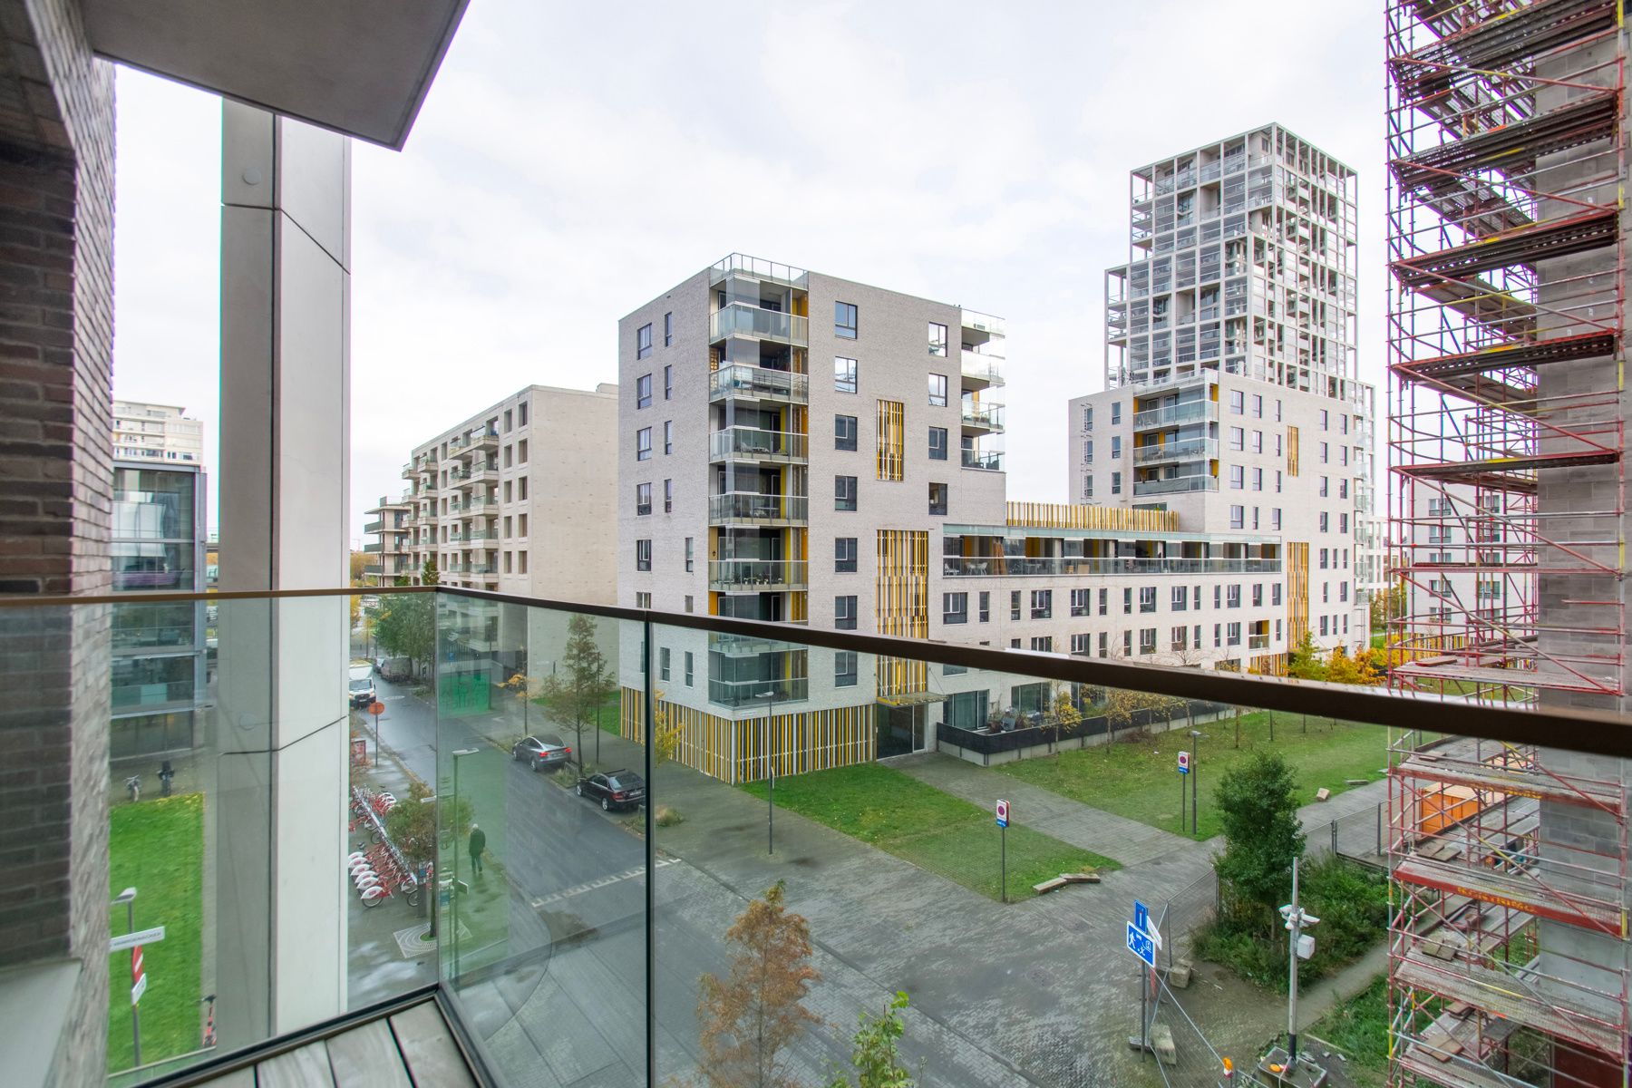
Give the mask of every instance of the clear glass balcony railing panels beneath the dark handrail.
[{"label": "clear glass balcony railing panels beneath the dark handrail", "polygon": [[[361,592],[380,599],[367,630],[349,621]],[[1565,941],[1552,946],[1557,958],[1539,956],[1531,938],[1547,940],[1532,928],[1546,909],[1554,927],[1580,918],[1594,940],[1619,940],[1625,873],[1606,863],[1603,835],[1554,835],[1549,820],[1621,825],[1632,788],[1625,716],[1477,703],[1461,680],[1443,698],[1405,698],[1242,675],[1234,669],[1265,664],[1260,654],[1284,643],[1245,635],[1245,646],[1198,652],[1170,641],[1165,621],[1149,638],[1136,633],[1133,644],[1149,649],[1120,661],[1097,644],[1092,657],[994,651],[858,638],[829,630],[831,618],[796,626],[557,608],[459,589],[188,600],[212,610],[219,654],[197,687],[157,682],[184,697],[180,706],[140,701],[131,692],[155,685],[118,672],[157,666],[96,652],[114,638],[106,600],[0,605],[13,710],[29,723],[85,711],[109,736],[108,755],[90,759],[103,760],[95,770],[113,804],[86,806],[106,827],[29,832],[91,868],[90,894],[134,889],[109,917],[111,1000],[93,1006],[106,1065],[83,1083],[103,1073],[119,1088],[175,1083],[202,1062],[248,1070],[256,1055],[251,1080],[312,1083],[277,1068],[302,1068],[295,1047],[313,1039],[323,1078],[372,1083],[380,1078],[344,1075],[357,1054],[372,1060],[374,1050],[348,1049],[370,1033],[380,1054],[424,1062],[415,1083],[468,1083],[428,1057],[432,1039],[446,1059],[477,1065],[477,1083],[499,1088],[591,1083],[591,1073],[601,1085],[707,1083],[731,1067],[702,1041],[752,1031],[743,980],[761,977],[764,938],[775,938],[777,977],[793,979],[783,1008],[821,1011],[795,1016],[793,1036],[772,1047],[788,1083],[832,1083],[857,1015],[876,1016],[904,992],[911,1011],[896,1044],[916,1083],[1009,1083],[1023,1068],[1030,1085],[1074,1088],[1092,1047],[1105,1083],[1160,1085],[1126,1047],[1138,1008],[1128,910],[1106,909],[1108,897],[1149,905],[1164,971],[1198,954],[1204,927],[1229,927],[1217,904],[1231,889],[1213,868],[1231,793],[1221,783],[1240,781],[1265,752],[1289,780],[1302,838],[1284,860],[1302,853],[1310,912],[1322,881],[1309,874],[1325,866],[1327,886],[1364,896],[1364,910],[1322,917],[1315,954],[1330,959],[1310,969],[1389,949],[1404,985],[1426,979],[1474,1005],[1495,990],[1514,1021],[1578,1024],[1578,1055],[1609,1078],[1622,1068],[1625,1036],[1609,1023],[1622,992],[1583,982],[1588,971],[1616,982],[1619,969],[1577,958]],[[1062,612],[1056,599],[1061,638],[1084,626]],[[354,669],[384,705],[379,718],[348,708]],[[1523,690],[1524,675],[1508,687]],[[109,683],[111,719],[100,695]],[[126,713],[140,706],[163,710]],[[83,759],[62,755],[73,789]],[[165,762],[175,773],[160,789]],[[1183,806],[1170,803],[1175,767],[1190,770]],[[1449,812],[1448,781],[1480,796],[1456,794]],[[1007,832],[992,798],[1023,798]],[[1110,830],[1108,817],[1118,817]],[[1103,882],[1079,886],[1093,878]],[[1444,954],[1446,886],[1524,915],[1510,940],[1526,954]],[[1041,896],[1048,902],[1035,902]],[[70,905],[31,910],[55,923]],[[1066,915],[1075,928],[1062,943]],[[162,940],[118,944],[158,927]],[[1252,962],[1278,954],[1284,967],[1284,931],[1260,930],[1252,918],[1234,940],[1260,940]],[[135,943],[139,1024],[124,980]],[[38,959],[44,969],[60,953]],[[968,1016],[971,971],[989,995],[978,1018]],[[1226,964],[1206,971],[1244,995],[1231,1037],[1284,1028],[1279,993],[1253,990]],[[349,1010],[374,1016],[432,990],[459,1046],[400,1006],[369,1031],[331,1029]],[[1040,1021],[1040,1008],[1069,1018],[1080,1046],[1053,1046],[1058,1024]],[[1439,1011],[1381,1016],[1359,1031],[1379,1052],[1410,1054],[1425,1036],[1435,1046]],[[1211,987],[1162,990],[1152,1023],[1175,1042],[1170,1083],[1222,1080],[1219,1036],[1201,1036],[1213,1018]],[[67,1034],[83,1023],[44,1023],[65,1026],[42,1049],[83,1039]],[[1461,1062],[1452,1054],[1433,1072],[1474,1068]],[[1237,1078],[1278,1080],[1255,1067],[1242,1054]]]}]

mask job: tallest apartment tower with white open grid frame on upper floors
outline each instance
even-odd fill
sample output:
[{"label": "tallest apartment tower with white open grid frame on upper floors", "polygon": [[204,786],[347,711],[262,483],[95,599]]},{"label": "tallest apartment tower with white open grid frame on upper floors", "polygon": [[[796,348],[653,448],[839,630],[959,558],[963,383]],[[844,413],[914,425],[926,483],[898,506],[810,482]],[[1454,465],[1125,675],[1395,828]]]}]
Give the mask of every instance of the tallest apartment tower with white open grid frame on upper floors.
[{"label": "tallest apartment tower with white open grid frame on upper floors", "polygon": [[1356,377],[1355,171],[1271,124],[1129,175],[1105,391],[1071,401],[1071,494],[1266,533],[1288,644],[1368,638],[1376,390]]}]

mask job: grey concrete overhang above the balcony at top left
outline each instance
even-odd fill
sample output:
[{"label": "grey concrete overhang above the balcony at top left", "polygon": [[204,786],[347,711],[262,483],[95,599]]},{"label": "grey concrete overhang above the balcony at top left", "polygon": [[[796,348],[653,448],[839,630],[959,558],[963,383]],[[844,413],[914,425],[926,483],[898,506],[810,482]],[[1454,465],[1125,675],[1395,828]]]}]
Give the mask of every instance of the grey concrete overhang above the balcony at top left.
[{"label": "grey concrete overhang above the balcony at top left", "polygon": [[91,49],[401,150],[468,0],[82,0]]}]

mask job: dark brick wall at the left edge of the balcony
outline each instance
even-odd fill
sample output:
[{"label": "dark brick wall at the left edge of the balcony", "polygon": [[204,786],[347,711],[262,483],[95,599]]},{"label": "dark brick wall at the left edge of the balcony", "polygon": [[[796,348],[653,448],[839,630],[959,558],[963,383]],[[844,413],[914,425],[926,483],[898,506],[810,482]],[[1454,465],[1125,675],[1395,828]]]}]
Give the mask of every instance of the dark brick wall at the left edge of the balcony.
[{"label": "dark brick wall at the left edge of the balcony", "polygon": [[[73,0],[0,0],[0,592],[111,586],[113,69]],[[0,966],[73,956],[54,1078],[108,1018],[108,617],[0,613]],[[18,682],[23,677],[28,682]]]}]

